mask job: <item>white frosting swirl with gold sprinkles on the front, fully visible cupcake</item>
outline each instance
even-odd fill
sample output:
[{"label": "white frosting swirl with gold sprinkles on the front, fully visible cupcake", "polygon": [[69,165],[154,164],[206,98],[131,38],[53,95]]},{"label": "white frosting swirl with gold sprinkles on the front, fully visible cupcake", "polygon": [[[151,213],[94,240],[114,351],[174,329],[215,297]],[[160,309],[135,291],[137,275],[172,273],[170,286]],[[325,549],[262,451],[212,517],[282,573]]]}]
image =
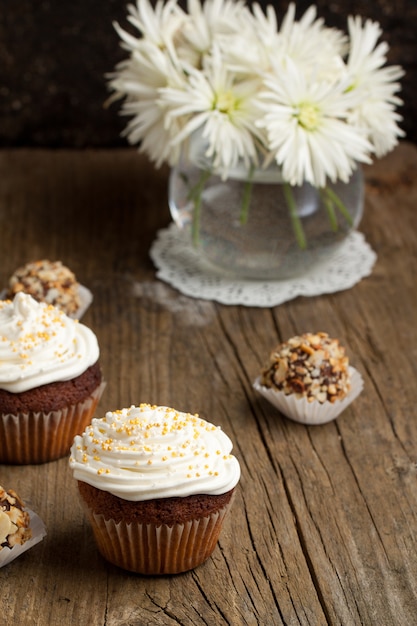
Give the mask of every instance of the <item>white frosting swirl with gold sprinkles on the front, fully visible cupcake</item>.
[{"label": "white frosting swirl with gold sprinkles on the front, fully visible cupcake", "polygon": [[232,442],[198,415],[141,404],[92,420],[74,439],[74,478],[124,500],[226,493],[239,481]]}]

